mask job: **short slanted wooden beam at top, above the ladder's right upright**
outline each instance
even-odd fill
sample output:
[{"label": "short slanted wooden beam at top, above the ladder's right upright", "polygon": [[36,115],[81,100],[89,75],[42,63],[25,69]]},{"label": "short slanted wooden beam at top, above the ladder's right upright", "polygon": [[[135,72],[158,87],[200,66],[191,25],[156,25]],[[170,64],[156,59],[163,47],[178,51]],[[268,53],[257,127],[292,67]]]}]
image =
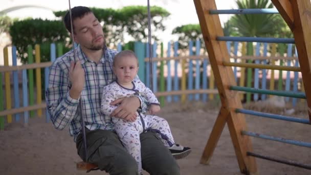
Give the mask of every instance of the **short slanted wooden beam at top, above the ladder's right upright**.
[{"label": "short slanted wooden beam at top, above the ladder's right upright", "polygon": [[294,14],[293,8],[289,0],[271,0],[274,6],[285,20],[286,24],[293,31],[294,28]]}]

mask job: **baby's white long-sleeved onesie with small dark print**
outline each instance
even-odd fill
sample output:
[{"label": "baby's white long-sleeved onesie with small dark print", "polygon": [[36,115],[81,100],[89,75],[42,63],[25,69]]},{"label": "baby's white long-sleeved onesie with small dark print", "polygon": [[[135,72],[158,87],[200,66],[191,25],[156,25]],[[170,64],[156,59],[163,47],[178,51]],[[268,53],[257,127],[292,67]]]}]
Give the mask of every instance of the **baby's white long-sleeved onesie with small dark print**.
[{"label": "baby's white long-sleeved onesie with small dark print", "polygon": [[[101,111],[109,116],[116,105],[110,105],[110,102],[122,98],[130,97],[133,95],[141,95],[147,99],[150,104],[159,105],[159,101],[152,91],[145,86],[143,82],[138,79],[132,81],[133,88],[127,89],[118,84],[117,81],[110,83],[104,87],[102,100],[101,100]],[[156,132],[162,138],[162,142],[165,146],[170,147],[174,144],[174,139],[171,134],[171,130],[167,121],[161,117],[154,115],[147,115],[138,112],[138,117],[135,122],[128,122],[123,119],[116,117],[108,117],[106,122],[113,121],[115,125],[116,133],[118,134],[124,147],[127,149],[129,154],[135,158],[138,164],[139,173],[142,173],[141,163],[141,144],[140,134],[146,130]]]}]

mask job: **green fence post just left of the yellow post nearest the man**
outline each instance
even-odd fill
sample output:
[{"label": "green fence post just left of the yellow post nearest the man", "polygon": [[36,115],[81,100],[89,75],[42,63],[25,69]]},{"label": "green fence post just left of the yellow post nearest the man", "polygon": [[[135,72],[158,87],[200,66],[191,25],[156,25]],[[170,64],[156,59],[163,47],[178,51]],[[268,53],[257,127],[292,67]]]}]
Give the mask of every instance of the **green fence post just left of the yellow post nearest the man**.
[{"label": "green fence post just left of the yellow post nearest the man", "polygon": [[[28,64],[33,63],[32,46],[28,46]],[[33,69],[28,70],[29,105],[34,105]],[[34,117],[34,111],[30,111],[30,117]]]}]

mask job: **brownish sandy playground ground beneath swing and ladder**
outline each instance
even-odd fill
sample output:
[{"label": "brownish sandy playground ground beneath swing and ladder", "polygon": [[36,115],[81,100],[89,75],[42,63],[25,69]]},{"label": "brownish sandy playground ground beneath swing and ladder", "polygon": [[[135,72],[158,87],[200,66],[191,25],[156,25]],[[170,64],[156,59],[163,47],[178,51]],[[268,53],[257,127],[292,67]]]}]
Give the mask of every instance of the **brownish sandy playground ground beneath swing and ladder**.
[{"label": "brownish sandy playground ground beneath swing and ladder", "polygon": [[[199,164],[219,111],[217,105],[207,106],[198,103],[167,104],[159,114],[168,120],[175,141],[192,148],[187,158],[177,161],[181,174],[241,174],[227,125],[209,165]],[[311,142],[310,125],[250,116],[246,116],[246,120],[249,131]],[[56,130],[51,123],[45,122],[44,116],[31,118],[28,126],[23,123],[6,124],[0,138],[0,174],[85,174],[85,171],[76,170],[76,162],[80,158],[68,128]],[[310,148],[259,138],[251,140],[254,152],[305,164],[311,162]],[[311,174],[311,170],[266,160],[256,159],[256,162],[258,174]],[[107,173],[93,171],[88,174]]]}]

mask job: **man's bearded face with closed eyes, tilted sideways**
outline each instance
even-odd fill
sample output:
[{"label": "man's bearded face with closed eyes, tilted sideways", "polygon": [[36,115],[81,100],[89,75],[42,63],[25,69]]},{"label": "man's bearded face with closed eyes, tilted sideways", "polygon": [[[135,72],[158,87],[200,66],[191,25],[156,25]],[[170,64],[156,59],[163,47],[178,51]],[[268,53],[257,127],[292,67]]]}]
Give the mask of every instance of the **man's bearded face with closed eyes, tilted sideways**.
[{"label": "man's bearded face with closed eyes, tilted sideways", "polygon": [[73,21],[74,39],[82,48],[88,50],[101,50],[105,45],[104,32],[92,12],[86,13],[82,18]]}]

